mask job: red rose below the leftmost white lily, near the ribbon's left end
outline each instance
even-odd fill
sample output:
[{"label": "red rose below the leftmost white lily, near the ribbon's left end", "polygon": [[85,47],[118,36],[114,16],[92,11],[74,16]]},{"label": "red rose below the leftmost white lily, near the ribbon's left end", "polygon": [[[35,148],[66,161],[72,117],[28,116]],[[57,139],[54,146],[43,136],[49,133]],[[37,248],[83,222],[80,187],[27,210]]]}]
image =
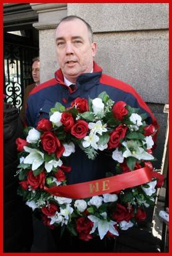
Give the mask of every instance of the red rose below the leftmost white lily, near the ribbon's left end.
[{"label": "red rose below the leftmost white lily, near the ribbon's left end", "polygon": [[45,172],[43,170],[43,172],[41,172],[40,174],[34,176],[34,173],[32,172],[32,170],[30,170],[27,173],[27,182],[29,183],[29,185],[31,185],[32,189],[38,189],[38,187],[40,187],[40,189],[43,189],[43,185],[45,184]]}]

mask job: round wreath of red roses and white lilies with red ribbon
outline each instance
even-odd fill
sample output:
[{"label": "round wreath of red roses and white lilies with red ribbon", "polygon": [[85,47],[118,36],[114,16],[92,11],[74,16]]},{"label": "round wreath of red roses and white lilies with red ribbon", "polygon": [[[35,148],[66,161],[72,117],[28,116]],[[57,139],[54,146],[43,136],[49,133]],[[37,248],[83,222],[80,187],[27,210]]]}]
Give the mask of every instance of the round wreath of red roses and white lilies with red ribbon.
[{"label": "round wreath of red roses and white lilies with red ribbon", "polygon": [[[153,207],[163,184],[152,165],[156,127],[146,119],[106,92],[96,99],[78,97],[68,108],[57,102],[50,120],[25,128],[25,139],[16,140],[18,194],[50,229],[66,228],[85,241],[97,235],[115,238],[120,229],[145,220],[145,209]],[[66,163],[76,145],[92,160],[100,151],[109,152],[114,172],[91,183],[67,185],[65,174],[73,170]]]}]

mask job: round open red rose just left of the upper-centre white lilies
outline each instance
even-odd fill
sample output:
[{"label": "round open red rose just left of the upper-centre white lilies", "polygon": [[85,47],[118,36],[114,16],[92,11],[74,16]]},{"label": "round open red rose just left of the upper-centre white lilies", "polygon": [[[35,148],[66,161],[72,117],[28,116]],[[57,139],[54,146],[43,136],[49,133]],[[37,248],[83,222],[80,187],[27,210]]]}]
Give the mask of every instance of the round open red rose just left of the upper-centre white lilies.
[{"label": "round open red rose just left of the upper-centre white lilies", "polygon": [[88,123],[83,120],[76,121],[76,124],[71,127],[71,134],[77,139],[83,139],[88,132]]}]

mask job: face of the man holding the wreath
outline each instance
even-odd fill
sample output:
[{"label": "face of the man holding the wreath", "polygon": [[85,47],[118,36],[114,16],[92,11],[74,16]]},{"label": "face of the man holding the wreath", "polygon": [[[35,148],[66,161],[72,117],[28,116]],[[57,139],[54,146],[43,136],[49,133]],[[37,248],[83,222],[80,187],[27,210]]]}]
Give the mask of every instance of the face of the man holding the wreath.
[{"label": "face of the man holding the wreath", "polygon": [[57,59],[63,76],[71,82],[93,69],[96,43],[91,43],[89,31],[83,21],[63,21],[56,31]]}]

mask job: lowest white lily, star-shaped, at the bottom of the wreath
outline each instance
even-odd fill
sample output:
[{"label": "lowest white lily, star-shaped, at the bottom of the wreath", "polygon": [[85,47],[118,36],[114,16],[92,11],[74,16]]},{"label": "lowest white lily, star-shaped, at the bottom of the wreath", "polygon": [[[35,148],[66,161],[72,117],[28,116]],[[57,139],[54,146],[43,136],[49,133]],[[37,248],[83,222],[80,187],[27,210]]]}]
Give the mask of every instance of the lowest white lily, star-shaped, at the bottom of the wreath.
[{"label": "lowest white lily, star-shaped, at the bottom of the wreath", "polygon": [[96,229],[98,229],[99,236],[100,236],[101,240],[104,238],[104,236],[106,235],[106,233],[108,231],[111,232],[111,234],[113,234],[113,235],[119,235],[117,230],[114,228],[114,225],[117,224],[117,222],[114,222],[112,220],[110,220],[108,222],[106,212],[103,212],[101,215],[102,215],[102,217],[104,217],[104,220],[101,220],[101,219],[97,218],[94,215],[89,215],[88,216],[88,219],[91,220],[94,223],[93,229],[89,232],[89,234],[94,233],[94,231]]}]

